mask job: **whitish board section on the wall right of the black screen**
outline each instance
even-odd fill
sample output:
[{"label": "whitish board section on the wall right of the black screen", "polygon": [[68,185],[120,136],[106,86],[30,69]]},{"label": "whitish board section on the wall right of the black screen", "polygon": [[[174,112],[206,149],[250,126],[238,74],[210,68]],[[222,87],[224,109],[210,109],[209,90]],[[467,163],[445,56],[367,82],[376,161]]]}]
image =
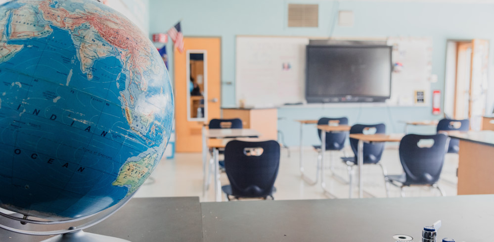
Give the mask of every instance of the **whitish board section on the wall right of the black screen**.
[{"label": "whitish board section on the wall right of the black screen", "polygon": [[390,37],[388,45],[393,46],[394,65],[391,98],[388,103],[398,106],[430,106],[432,39]]}]

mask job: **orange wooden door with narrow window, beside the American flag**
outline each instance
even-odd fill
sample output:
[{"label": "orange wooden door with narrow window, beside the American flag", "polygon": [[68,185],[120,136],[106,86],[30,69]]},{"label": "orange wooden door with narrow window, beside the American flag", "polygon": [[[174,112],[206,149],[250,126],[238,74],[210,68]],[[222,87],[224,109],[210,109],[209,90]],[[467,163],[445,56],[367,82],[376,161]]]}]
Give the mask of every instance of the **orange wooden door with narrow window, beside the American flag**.
[{"label": "orange wooden door with narrow window, beside the American flag", "polygon": [[[175,49],[174,54],[176,151],[201,152],[202,126],[208,124],[212,118],[219,118],[221,115],[221,38],[185,37],[183,40],[184,51],[180,53]],[[203,88],[201,90],[204,92],[202,96],[204,100],[204,118],[202,120],[191,120],[190,116],[188,116],[189,112],[197,114],[193,110],[195,106],[191,105],[191,103],[198,96],[187,94],[187,92],[190,93],[188,85],[192,82],[190,78],[192,76],[191,71],[195,72],[197,70],[197,66],[190,63],[190,53],[193,52],[204,53],[204,82],[198,85],[199,88]],[[189,100],[187,101],[187,99]],[[193,111],[191,112],[190,110]]]}]

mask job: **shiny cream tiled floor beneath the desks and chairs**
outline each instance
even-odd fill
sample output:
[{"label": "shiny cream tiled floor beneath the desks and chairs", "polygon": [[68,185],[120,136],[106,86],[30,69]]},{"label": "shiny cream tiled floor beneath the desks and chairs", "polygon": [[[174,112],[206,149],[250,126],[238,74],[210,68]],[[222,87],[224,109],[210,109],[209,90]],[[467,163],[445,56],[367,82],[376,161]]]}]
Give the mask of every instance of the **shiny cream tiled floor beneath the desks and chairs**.
[{"label": "shiny cream tiled floor beneath the desks and chairs", "polygon": [[[348,150],[348,153],[352,153]],[[348,179],[346,165],[340,161],[341,152],[335,152],[334,170],[335,173],[344,179]],[[304,150],[306,174],[315,176],[315,163],[317,153],[314,149],[307,147]],[[328,164],[329,155],[326,155]],[[402,173],[402,166],[398,156],[397,145],[387,144],[382,159],[388,170],[388,174]],[[456,168],[458,165],[457,154],[447,154],[443,167],[440,186],[446,195],[456,195]],[[355,168],[354,168],[355,169]],[[357,169],[354,170],[357,175]],[[363,167],[363,184],[365,197],[386,197],[384,180],[379,166],[365,165]],[[355,176],[356,177],[356,176]],[[330,175],[326,170],[327,188],[337,198],[348,198],[349,186]],[[156,197],[156,196],[199,196],[201,201],[214,201],[213,187],[202,196],[202,160],[200,153],[177,153],[175,159],[163,159],[150,179],[140,188],[136,197]],[[354,197],[358,196],[358,181],[354,179]],[[222,185],[228,184],[225,173],[221,174]],[[276,200],[287,199],[324,199],[328,198],[322,193],[320,184],[311,186],[305,183],[300,176],[299,151],[297,148],[291,149],[290,157],[287,150],[282,149],[278,178],[275,183],[277,192],[274,194]],[[434,189],[423,187],[405,188],[406,196],[437,196],[439,192]],[[391,186],[391,196],[400,196],[400,190]],[[225,199],[225,198],[223,198]]]}]

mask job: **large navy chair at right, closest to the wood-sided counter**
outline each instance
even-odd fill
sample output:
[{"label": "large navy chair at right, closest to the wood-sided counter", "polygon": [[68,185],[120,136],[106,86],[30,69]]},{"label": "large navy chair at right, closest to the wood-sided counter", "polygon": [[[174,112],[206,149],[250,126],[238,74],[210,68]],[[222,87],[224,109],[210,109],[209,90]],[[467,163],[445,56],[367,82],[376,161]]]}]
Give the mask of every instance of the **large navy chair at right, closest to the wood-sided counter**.
[{"label": "large navy chair at right, closest to the wood-sided counter", "polygon": [[[433,140],[433,145],[419,146],[421,140]],[[448,149],[448,137],[444,134],[437,135],[406,135],[400,142],[400,161],[404,174],[386,176],[386,194],[389,196],[389,186],[400,187],[401,196],[404,196],[403,188],[412,185],[431,186],[444,191],[437,185],[444,158]]]}]

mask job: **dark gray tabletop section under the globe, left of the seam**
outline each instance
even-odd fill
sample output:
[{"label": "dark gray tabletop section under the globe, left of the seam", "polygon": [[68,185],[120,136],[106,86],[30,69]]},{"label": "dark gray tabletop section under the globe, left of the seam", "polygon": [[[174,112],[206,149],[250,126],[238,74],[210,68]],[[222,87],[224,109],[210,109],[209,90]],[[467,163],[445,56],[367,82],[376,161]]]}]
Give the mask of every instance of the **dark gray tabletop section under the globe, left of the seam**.
[{"label": "dark gray tabletop section under the globe, left of the seam", "polygon": [[[17,221],[8,221],[3,217],[0,223],[23,230],[28,230],[30,226],[22,226]],[[67,229],[68,225],[50,228]],[[201,228],[198,197],[153,197],[132,198],[115,214],[84,231],[131,242],[202,242]],[[47,238],[0,229],[0,242],[40,242]]]}]

